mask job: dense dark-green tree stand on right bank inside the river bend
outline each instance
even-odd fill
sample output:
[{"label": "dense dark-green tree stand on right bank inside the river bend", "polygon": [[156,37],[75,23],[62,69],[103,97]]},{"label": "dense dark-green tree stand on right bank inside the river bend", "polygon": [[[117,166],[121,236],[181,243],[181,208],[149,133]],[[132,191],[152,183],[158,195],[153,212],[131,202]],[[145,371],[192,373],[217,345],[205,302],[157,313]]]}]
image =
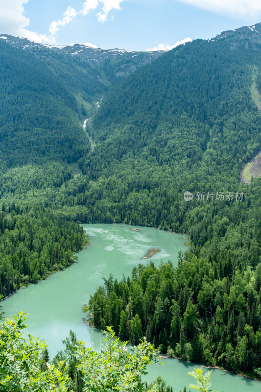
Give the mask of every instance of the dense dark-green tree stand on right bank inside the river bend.
[{"label": "dense dark-green tree stand on right bank inside the river bend", "polygon": [[140,264],[131,278],[104,278],[89,310],[95,327],[112,325],[122,340],[146,336],[170,356],[261,376],[261,264],[252,275],[191,252],[175,270]]}]

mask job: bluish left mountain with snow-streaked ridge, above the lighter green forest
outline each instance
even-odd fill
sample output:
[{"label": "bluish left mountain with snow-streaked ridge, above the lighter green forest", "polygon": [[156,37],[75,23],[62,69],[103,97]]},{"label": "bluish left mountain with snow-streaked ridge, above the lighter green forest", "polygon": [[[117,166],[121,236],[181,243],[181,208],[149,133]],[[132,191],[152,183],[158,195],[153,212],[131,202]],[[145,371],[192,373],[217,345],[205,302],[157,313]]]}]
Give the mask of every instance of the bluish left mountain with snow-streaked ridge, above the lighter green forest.
[{"label": "bluish left mountain with snow-streaked ridge, above the lighter green forest", "polygon": [[1,167],[77,161],[90,148],[79,121],[120,78],[161,54],[53,47],[1,35]]}]

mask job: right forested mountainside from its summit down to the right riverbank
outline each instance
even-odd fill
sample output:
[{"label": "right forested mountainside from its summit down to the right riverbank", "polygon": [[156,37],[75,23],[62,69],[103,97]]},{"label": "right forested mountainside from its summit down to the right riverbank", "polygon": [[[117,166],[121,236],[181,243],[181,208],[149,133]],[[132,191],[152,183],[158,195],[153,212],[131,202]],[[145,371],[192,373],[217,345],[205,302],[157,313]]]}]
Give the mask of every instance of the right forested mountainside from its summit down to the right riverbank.
[{"label": "right forested mountainside from its summit down to the right riverbank", "polygon": [[90,301],[96,326],[261,375],[261,179],[239,182],[261,143],[252,95],[253,84],[261,90],[260,33],[251,28],[169,51],[108,93],[83,165],[94,183],[82,200],[88,205],[95,187],[87,220],[191,239],[175,271],[140,265],[127,281],[108,277]]}]

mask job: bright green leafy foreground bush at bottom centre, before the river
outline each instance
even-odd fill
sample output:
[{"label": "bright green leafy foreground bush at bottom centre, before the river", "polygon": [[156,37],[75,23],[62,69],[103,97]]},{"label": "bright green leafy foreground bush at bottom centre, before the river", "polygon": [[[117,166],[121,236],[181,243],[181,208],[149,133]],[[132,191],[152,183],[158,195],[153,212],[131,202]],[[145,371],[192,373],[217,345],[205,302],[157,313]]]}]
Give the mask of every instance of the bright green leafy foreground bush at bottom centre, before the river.
[{"label": "bright green leafy foreground bush at bottom centre, before the river", "polygon": [[[146,341],[134,346],[133,353],[127,350],[126,343],[115,338],[115,332],[107,327],[105,344],[101,352],[85,348],[83,342],[75,353],[77,368],[81,370],[85,391],[142,392],[142,374],[152,361],[158,363],[157,350]],[[152,391],[157,391],[154,387]]]}]

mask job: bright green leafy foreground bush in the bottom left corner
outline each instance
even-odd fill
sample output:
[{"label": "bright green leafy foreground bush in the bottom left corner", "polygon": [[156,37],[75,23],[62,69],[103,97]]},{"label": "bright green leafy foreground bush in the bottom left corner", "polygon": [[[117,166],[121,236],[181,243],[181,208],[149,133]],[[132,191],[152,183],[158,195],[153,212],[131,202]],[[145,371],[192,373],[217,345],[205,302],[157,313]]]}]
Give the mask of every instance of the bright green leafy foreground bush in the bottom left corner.
[{"label": "bright green leafy foreground bush in the bottom left corner", "polygon": [[23,338],[24,314],[19,312],[14,320],[5,319],[0,324],[0,391],[68,391],[69,376],[58,367],[47,364],[41,371],[44,341],[29,335]]}]

